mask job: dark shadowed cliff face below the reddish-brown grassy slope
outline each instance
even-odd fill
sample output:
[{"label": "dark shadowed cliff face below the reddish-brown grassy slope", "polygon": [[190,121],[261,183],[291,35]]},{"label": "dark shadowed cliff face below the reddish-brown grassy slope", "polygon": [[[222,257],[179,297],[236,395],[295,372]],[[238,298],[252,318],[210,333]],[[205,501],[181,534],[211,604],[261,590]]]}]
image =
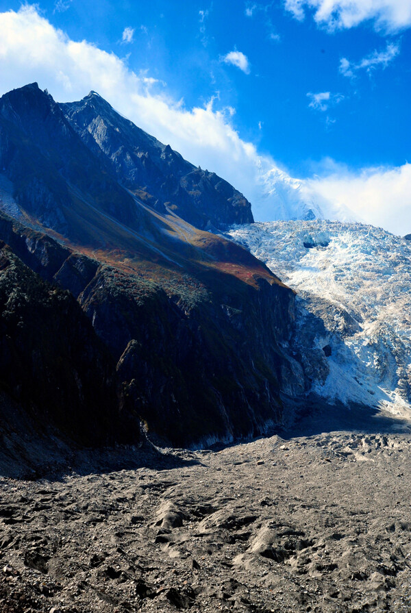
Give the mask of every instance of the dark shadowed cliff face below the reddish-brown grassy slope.
[{"label": "dark shadowed cliff face below the reddish-brown grassy slope", "polygon": [[294,297],[264,269],[231,264],[250,275],[245,282],[221,261],[197,265],[196,275],[99,262],[5,216],[0,236],[78,297],[114,358],[123,416],[143,418],[175,445],[256,434],[281,419],[281,390],[300,384],[279,347]]}]

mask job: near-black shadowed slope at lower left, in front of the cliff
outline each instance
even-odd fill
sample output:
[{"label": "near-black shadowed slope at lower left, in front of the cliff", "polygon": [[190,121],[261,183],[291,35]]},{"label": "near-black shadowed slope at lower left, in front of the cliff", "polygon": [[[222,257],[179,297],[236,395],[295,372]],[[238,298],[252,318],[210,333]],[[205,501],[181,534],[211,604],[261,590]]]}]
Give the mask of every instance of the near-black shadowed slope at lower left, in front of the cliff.
[{"label": "near-black shadowed slope at lower left, in front of the cliff", "polygon": [[[3,451],[16,431],[27,438],[58,428],[87,445],[133,438],[121,423],[113,360],[90,321],[70,292],[43,281],[3,242],[0,373]],[[16,423],[10,405],[25,418]]]}]

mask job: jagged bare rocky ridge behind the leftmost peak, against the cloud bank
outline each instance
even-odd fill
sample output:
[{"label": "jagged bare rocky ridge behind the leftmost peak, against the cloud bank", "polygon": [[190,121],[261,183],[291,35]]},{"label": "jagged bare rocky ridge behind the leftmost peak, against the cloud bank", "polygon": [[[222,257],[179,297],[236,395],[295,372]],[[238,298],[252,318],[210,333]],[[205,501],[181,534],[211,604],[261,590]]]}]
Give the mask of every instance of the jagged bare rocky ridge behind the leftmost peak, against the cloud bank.
[{"label": "jagged bare rocky ridge behind the leftmost peak, against the cloud bank", "polygon": [[119,182],[160,212],[174,212],[201,229],[253,222],[251,204],[232,185],[184,160],[96,92],[60,108],[86,145],[108,160]]}]

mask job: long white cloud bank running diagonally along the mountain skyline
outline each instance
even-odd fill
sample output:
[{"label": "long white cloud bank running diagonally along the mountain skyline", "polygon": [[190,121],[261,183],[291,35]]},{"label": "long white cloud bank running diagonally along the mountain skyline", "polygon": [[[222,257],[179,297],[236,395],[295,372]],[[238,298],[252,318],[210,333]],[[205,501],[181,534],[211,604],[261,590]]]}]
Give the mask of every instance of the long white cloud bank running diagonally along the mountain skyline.
[{"label": "long white cloud bank running diagonally along the mountain skyline", "polygon": [[99,92],[186,160],[232,183],[260,221],[314,206],[330,218],[358,215],[393,232],[411,232],[409,164],[357,175],[334,164],[322,178],[294,179],[240,138],[232,125],[234,109],[215,110],[213,100],[205,108],[186,108],[184,101],[167,97],[147,71],[134,73],[114,53],[71,40],[34,7],[0,14],[0,75],[0,94],[34,81],[58,101]]}]

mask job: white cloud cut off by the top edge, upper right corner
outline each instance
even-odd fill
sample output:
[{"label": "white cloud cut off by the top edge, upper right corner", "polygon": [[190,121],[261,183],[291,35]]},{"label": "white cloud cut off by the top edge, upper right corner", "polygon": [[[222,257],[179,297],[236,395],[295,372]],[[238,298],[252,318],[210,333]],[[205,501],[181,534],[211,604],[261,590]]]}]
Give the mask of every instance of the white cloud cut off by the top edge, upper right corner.
[{"label": "white cloud cut off by the top edge, upper right corner", "polygon": [[410,0],[285,0],[285,5],[300,21],[306,8],[314,10],[316,23],[328,29],[372,21],[377,30],[396,32],[411,25]]}]

